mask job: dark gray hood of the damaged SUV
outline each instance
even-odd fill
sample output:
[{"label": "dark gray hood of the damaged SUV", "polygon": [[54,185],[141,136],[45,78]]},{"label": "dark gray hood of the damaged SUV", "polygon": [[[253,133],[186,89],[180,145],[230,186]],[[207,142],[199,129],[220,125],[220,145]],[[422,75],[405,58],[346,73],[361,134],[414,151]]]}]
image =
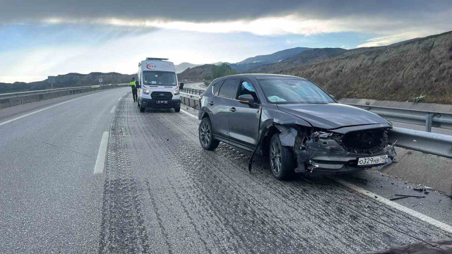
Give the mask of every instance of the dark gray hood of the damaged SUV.
[{"label": "dark gray hood of the damaged SUV", "polygon": [[388,124],[381,116],[364,109],[340,103],[278,104],[278,109],[298,116],[318,128],[336,129],[345,126]]}]

